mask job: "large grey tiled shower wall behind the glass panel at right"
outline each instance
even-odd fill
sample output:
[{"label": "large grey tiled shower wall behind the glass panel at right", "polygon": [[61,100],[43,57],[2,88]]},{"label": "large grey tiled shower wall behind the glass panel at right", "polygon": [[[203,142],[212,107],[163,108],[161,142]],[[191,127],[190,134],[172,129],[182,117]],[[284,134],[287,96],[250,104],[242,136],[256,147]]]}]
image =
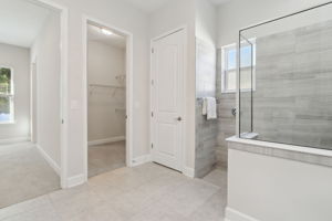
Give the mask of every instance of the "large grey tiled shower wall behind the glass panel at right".
[{"label": "large grey tiled shower wall behind the glass panel at right", "polygon": [[258,38],[253,131],[332,149],[332,22]]}]

